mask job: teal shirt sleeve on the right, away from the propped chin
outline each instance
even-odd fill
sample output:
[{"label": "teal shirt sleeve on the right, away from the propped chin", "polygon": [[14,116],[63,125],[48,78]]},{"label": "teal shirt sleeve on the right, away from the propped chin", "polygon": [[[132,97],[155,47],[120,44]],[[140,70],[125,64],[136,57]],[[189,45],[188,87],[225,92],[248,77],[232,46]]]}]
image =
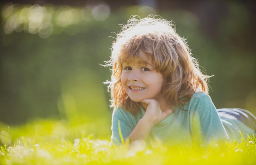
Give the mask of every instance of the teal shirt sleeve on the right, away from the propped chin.
[{"label": "teal shirt sleeve on the right, away from the propped chin", "polygon": [[192,117],[192,137],[206,144],[228,138],[218,112],[209,95],[196,101]]}]

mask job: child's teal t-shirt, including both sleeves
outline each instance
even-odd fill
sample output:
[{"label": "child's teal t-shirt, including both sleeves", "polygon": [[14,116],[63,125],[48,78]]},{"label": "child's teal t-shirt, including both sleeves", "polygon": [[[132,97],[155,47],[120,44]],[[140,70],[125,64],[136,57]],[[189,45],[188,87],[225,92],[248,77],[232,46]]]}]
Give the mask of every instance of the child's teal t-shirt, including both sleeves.
[{"label": "child's teal t-shirt, including both sleeves", "polygon": [[[212,140],[218,141],[225,138],[237,140],[241,136],[239,136],[240,132],[236,130],[236,126],[239,125],[240,129],[246,128],[240,121],[233,121],[228,117],[220,119],[211,98],[205,93],[195,92],[191,100],[181,108],[184,110],[175,109],[168,117],[157,123],[151,129],[148,140],[161,141],[170,145],[177,145],[177,143],[205,144]],[[114,109],[111,145],[119,145],[122,140],[125,141],[144,114],[145,110],[142,107],[136,116],[122,107]],[[245,130],[247,133],[253,132],[249,128]]]}]

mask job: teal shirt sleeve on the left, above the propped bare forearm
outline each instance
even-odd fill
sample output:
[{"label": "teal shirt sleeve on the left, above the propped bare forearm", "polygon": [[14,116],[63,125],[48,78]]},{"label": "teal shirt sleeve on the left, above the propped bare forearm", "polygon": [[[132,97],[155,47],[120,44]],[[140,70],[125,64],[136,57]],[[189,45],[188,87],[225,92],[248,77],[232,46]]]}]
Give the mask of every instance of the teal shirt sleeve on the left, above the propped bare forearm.
[{"label": "teal shirt sleeve on the left, above the propped bare forearm", "polygon": [[133,116],[123,108],[114,109],[112,113],[112,136],[111,146],[120,145],[128,138],[132,130],[135,128]]}]

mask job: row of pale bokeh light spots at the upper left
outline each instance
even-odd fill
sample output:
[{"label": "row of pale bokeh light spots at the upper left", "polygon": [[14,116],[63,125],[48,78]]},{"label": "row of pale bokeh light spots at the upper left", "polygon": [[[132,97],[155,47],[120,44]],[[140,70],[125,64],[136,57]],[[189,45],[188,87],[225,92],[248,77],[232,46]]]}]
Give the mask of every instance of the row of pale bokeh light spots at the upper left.
[{"label": "row of pale bokeh light spots at the upper left", "polygon": [[[2,8],[4,34],[25,31],[38,34],[40,38],[48,38],[53,33],[66,32],[74,34],[76,30],[65,29],[67,26],[82,24],[84,21],[104,21],[110,15],[110,6],[106,3],[88,4],[82,8],[70,6],[56,7],[52,4],[45,6],[22,5],[7,3]],[[61,27],[61,28],[59,28]]]}]

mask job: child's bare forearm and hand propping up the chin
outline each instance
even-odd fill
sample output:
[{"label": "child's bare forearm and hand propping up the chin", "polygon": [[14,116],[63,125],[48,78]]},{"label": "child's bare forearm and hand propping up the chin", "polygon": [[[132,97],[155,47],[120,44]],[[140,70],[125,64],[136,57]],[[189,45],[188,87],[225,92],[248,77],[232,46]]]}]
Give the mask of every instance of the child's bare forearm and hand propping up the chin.
[{"label": "child's bare forearm and hand propping up the chin", "polygon": [[146,139],[152,127],[160,121],[164,120],[172,112],[171,109],[167,109],[162,112],[158,101],[155,99],[145,99],[143,103],[148,105],[146,113],[139,120],[136,127],[128,137],[130,141]]}]

